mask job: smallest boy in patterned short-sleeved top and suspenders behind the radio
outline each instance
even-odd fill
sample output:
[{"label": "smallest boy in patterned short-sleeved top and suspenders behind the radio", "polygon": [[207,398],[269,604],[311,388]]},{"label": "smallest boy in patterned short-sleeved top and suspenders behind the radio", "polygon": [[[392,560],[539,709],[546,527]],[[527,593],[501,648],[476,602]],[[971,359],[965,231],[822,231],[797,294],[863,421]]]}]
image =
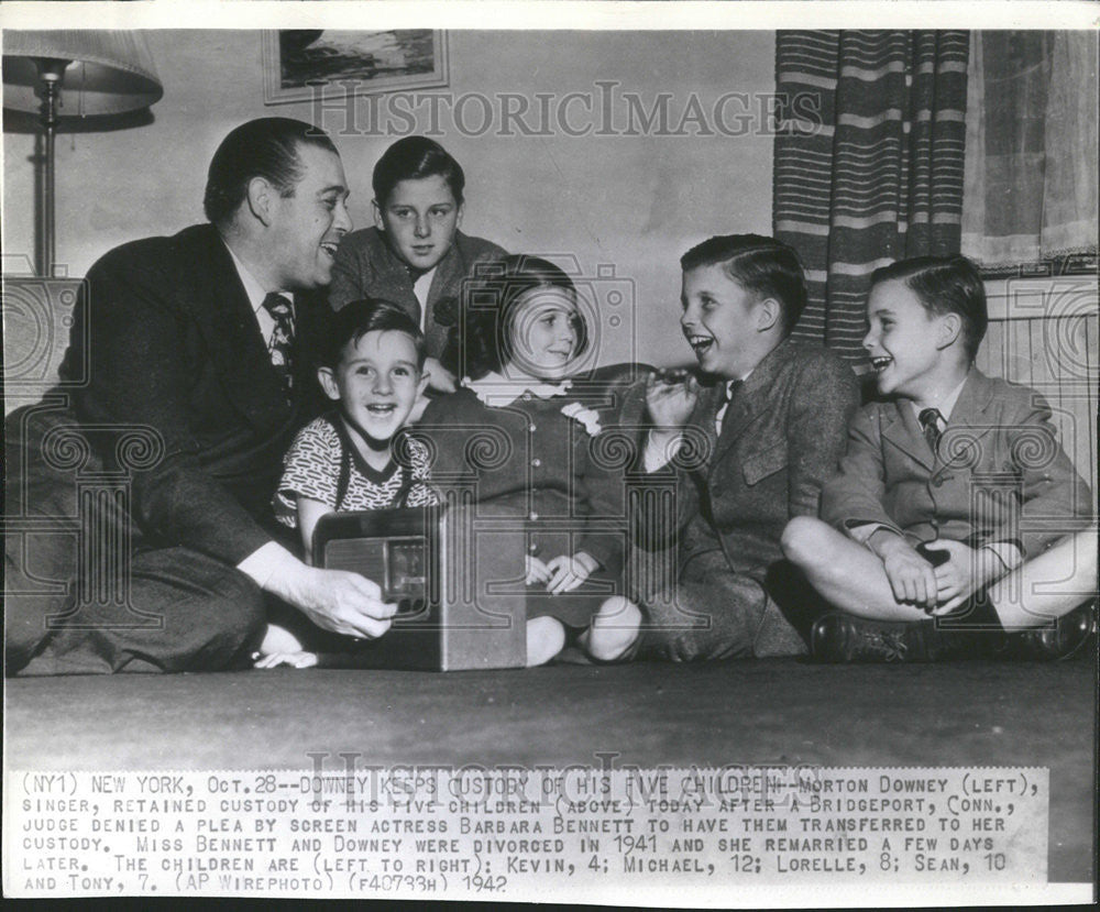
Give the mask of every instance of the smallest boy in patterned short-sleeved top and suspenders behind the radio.
[{"label": "smallest boy in patterned short-sleeved top and suspenders behind the radio", "polygon": [[[437,503],[427,447],[399,435],[428,385],[424,333],[400,308],[371,299],[352,301],[333,323],[317,376],[337,407],[299,431],[274,498],[278,520],[301,534],[307,560],[328,513]],[[256,667],[316,664],[311,650],[321,644],[342,651],[333,636],[273,618]]]}]

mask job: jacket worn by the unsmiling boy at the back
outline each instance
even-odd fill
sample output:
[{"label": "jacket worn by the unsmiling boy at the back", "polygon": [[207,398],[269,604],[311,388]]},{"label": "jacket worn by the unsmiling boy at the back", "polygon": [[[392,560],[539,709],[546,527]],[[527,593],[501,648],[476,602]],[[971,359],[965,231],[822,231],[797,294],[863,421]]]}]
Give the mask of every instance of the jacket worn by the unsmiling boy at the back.
[{"label": "jacket worn by the unsmiling boy at the back", "polygon": [[[430,356],[439,358],[443,353],[448,331],[458,321],[463,279],[473,273],[475,264],[506,255],[491,241],[454,232],[454,243],[436,266],[428,289],[424,334]],[[329,300],[336,310],[364,297],[396,304],[417,325],[420,322],[420,301],[413,292],[413,279],[405,262],[393,252],[377,228],[353,231],[344,238],[332,270]]]}]

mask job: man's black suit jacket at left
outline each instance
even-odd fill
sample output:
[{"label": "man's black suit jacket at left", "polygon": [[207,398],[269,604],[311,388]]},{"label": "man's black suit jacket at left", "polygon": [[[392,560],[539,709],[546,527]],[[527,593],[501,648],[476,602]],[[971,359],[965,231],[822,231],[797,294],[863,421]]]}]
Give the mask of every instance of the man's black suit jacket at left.
[{"label": "man's black suit jacket at left", "polygon": [[[131,517],[143,543],[182,545],[235,564],[284,536],[271,499],[292,438],[322,407],[312,353],[327,304],[295,295],[288,404],[212,226],[117,248],[91,267],[85,287],[62,376],[87,370],[73,403],[81,426],[143,426],[163,442],[163,458],[151,466],[139,460],[132,479]],[[85,326],[87,365],[77,344]],[[100,446],[98,454],[111,468],[117,452]]]}]

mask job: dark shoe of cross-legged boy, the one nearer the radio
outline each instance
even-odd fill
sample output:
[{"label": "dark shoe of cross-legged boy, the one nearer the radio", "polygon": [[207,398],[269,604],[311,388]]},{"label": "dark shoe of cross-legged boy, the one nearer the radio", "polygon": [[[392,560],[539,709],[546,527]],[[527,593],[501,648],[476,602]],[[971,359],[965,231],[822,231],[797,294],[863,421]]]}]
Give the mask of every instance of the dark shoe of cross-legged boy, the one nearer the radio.
[{"label": "dark shoe of cross-legged boy, the one nearer the radio", "polygon": [[832,612],[814,622],[810,655],[818,662],[926,662],[933,622],[867,620]]}]

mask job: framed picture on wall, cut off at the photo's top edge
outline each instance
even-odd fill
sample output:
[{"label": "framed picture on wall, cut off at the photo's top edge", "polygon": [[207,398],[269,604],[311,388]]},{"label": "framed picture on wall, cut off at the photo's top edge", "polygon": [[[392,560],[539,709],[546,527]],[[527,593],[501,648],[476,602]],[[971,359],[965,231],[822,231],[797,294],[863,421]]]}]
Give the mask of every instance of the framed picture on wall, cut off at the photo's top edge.
[{"label": "framed picture on wall, cut off at the photo's top edge", "polygon": [[264,32],[263,56],[265,105],[308,101],[329,85],[373,95],[448,84],[447,36],[437,29],[280,29]]}]

